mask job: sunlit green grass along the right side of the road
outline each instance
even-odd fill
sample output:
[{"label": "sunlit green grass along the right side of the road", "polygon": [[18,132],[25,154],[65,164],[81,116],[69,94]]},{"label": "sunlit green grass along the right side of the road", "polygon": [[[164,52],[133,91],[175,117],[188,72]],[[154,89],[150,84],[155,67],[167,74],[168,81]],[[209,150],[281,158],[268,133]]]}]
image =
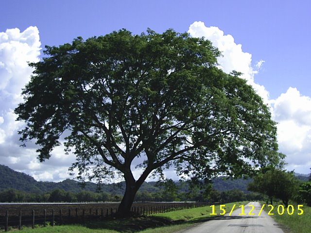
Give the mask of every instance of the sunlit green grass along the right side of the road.
[{"label": "sunlit green grass along the right side of the road", "polygon": [[[289,215],[286,209],[283,215],[279,215],[277,213],[277,206],[278,204],[274,204],[275,208],[271,212],[274,214],[272,215],[272,217],[275,219],[277,223],[283,225],[285,232],[293,232],[293,233],[310,233],[311,232],[311,207],[304,205],[302,207],[303,214],[297,215],[297,213],[299,213],[297,211],[297,204],[293,204],[294,206],[293,215]],[[269,210],[270,210],[270,207],[265,208],[266,212],[268,212]]]}]

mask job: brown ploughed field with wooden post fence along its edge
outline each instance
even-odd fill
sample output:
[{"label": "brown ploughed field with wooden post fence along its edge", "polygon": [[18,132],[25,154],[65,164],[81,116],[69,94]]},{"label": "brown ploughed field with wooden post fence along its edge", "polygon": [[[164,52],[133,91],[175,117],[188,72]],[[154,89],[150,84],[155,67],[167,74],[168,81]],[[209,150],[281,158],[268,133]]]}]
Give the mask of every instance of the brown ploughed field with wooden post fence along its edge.
[{"label": "brown ploughed field with wooden post fence along its edge", "polygon": [[[205,206],[205,202],[141,202],[134,203],[132,212],[136,215],[153,215],[193,207]],[[56,204],[53,205],[0,205],[0,231],[7,232],[10,227],[36,225],[62,225],[81,223],[89,220],[104,220],[117,213],[118,204]],[[32,208],[35,207],[35,208]],[[49,208],[44,208],[49,207]],[[98,207],[98,208],[97,208]]]}]

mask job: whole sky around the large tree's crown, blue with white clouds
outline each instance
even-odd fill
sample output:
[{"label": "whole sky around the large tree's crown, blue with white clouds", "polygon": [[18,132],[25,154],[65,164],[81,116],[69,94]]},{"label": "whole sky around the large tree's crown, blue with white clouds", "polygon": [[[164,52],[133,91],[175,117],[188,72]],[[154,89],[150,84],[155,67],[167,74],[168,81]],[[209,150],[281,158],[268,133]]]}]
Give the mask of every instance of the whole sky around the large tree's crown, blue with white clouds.
[{"label": "whole sky around the large tree's crown, blue with white clouds", "polygon": [[[309,173],[310,12],[311,1],[308,0],[3,0],[0,8],[0,33],[3,35],[2,40],[0,39],[0,100],[5,100],[6,104],[0,104],[0,156],[3,161],[0,164],[31,174],[36,179],[61,180],[67,177],[65,167],[69,163],[69,160],[63,160],[62,168],[56,169],[57,173],[56,159],[46,165],[38,165],[30,157],[32,151],[29,149],[28,157],[24,155],[30,161],[27,163],[25,159],[20,158],[19,154],[24,153],[22,150],[13,150],[18,143],[16,129],[20,124],[9,120],[13,117],[10,110],[14,109],[18,102],[14,97],[18,94],[15,90],[19,87],[17,83],[24,85],[30,70],[22,65],[22,61],[19,61],[19,65],[14,62],[15,50],[5,47],[8,41],[3,39],[6,38],[4,34],[12,34],[8,33],[7,29],[20,30],[20,33],[15,31],[16,36],[9,36],[8,39],[20,43],[22,40],[18,38],[28,29],[28,33],[24,33],[23,36],[29,36],[30,39],[23,43],[29,43],[31,46],[23,44],[24,47],[16,48],[32,51],[33,55],[30,56],[30,52],[21,52],[26,54],[25,56],[17,56],[19,53],[15,55],[19,60],[24,57],[26,60],[35,61],[42,57],[42,53],[38,54],[38,40],[43,48],[44,45],[57,46],[71,42],[77,36],[88,38],[121,28],[136,34],[146,31],[147,28],[159,33],[169,28],[177,32],[187,32],[192,25],[193,36],[211,36],[207,39],[214,40],[215,45],[223,45],[226,54],[224,69],[245,64],[242,71],[250,71],[251,74],[244,78],[249,80],[250,84],[255,83],[254,85],[261,90],[262,97],[271,105],[274,119],[279,122],[280,150],[288,154],[288,169]],[[197,21],[202,23],[193,25]],[[29,29],[30,26],[36,27],[39,34],[36,29]],[[234,41],[225,35],[231,35]],[[239,45],[242,45],[241,51]],[[259,61],[264,62],[256,67]],[[1,62],[4,64],[2,67]],[[13,63],[17,64],[15,68],[10,65]],[[236,63],[240,64],[235,65]],[[8,67],[15,70],[14,79],[10,79]],[[25,69],[24,73],[21,73],[20,70],[23,69],[20,67]],[[1,78],[1,74],[6,78]],[[16,88],[13,88],[14,84]],[[5,93],[10,93],[11,96]],[[5,145],[11,147],[8,149]]]}]

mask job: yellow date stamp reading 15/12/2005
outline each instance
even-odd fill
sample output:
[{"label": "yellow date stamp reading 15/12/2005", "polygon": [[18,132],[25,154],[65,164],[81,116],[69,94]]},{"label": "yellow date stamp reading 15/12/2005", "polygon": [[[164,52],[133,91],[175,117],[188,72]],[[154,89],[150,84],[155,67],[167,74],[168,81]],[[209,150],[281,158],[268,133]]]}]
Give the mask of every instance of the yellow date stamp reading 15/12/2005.
[{"label": "yellow date stamp reading 15/12/2005", "polygon": [[[209,206],[212,208],[212,213],[210,213],[209,215],[218,215],[216,213],[216,207],[215,205],[211,205]],[[232,212],[236,209],[240,209],[240,213],[239,215],[251,215],[251,216],[260,216],[263,209],[265,207],[265,204],[263,204],[261,207],[260,206],[254,206],[252,204],[247,205],[247,207],[245,205],[239,205],[238,207],[236,206],[236,204],[234,204],[229,212],[229,216],[232,215]],[[278,205],[278,206],[273,206],[273,205],[267,205],[268,210],[268,215],[283,215],[284,213],[287,213],[288,215],[302,215],[303,214],[303,209],[302,209],[303,205],[297,205],[297,208],[295,209],[294,205],[288,205],[287,207],[284,205]],[[260,210],[259,210],[260,208]],[[225,205],[220,205],[219,206],[219,210],[221,211],[219,213],[219,215],[225,215],[227,212],[225,210]],[[259,212],[257,211],[259,210]],[[254,213],[256,212],[256,213]]]}]

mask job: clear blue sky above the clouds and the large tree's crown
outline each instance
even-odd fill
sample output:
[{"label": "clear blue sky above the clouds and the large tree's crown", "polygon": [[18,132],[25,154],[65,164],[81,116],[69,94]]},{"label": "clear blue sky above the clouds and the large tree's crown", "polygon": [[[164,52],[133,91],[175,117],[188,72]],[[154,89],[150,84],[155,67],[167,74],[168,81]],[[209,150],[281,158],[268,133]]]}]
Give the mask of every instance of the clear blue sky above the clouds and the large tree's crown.
[{"label": "clear blue sky above the clouds and the large tree's crown", "polygon": [[[308,0],[5,0],[0,31],[37,26],[42,45],[60,45],[77,36],[88,38],[126,28],[133,33],[148,27],[156,32],[173,28],[186,32],[194,21],[219,27],[266,61],[258,75],[271,97],[288,86],[307,95],[311,58],[311,2]],[[281,80],[281,82],[280,82]]]}]

